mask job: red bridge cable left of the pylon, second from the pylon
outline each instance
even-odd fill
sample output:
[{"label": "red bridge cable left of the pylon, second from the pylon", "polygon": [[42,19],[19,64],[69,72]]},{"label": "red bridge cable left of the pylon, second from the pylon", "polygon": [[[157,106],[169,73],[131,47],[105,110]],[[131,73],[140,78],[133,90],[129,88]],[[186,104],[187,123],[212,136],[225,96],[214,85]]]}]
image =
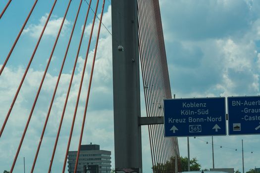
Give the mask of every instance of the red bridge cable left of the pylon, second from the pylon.
[{"label": "red bridge cable left of the pylon, second from the pylon", "polygon": [[[69,146],[70,146],[70,142],[71,142],[72,132],[73,132],[74,123],[75,123],[76,114],[77,114],[77,109],[78,109],[78,104],[79,104],[79,98],[80,98],[81,88],[82,88],[82,84],[83,84],[83,80],[84,80],[84,75],[85,75],[85,70],[86,70],[86,65],[87,65],[87,60],[88,60],[88,54],[89,54],[89,49],[90,49],[90,43],[91,43],[91,40],[92,40],[92,34],[93,34],[94,25],[95,25],[95,20],[96,20],[96,15],[97,15],[97,11],[98,11],[98,5],[99,5],[99,0],[97,0],[96,10],[95,10],[95,14],[94,14],[94,18],[93,18],[93,23],[92,23],[92,28],[91,28],[91,32],[90,32],[90,38],[89,38],[89,43],[88,43],[88,49],[87,49],[87,52],[86,52],[85,63],[84,63],[84,67],[83,67],[83,71],[82,71],[82,75],[81,75],[81,81],[80,81],[80,86],[79,86],[79,91],[78,91],[78,97],[77,97],[77,102],[76,102],[76,105],[75,105],[75,111],[74,111],[74,115],[73,115],[73,121],[72,121],[72,124],[71,124],[71,129],[70,129],[70,134],[69,134],[69,140],[68,140],[67,150],[66,150],[66,154],[65,154],[65,158],[64,158],[62,173],[64,173],[65,167],[66,167],[66,162],[67,162],[67,156],[68,156]],[[90,7],[90,5],[89,5],[89,7]],[[84,30],[83,30],[83,31],[84,31]]]}]

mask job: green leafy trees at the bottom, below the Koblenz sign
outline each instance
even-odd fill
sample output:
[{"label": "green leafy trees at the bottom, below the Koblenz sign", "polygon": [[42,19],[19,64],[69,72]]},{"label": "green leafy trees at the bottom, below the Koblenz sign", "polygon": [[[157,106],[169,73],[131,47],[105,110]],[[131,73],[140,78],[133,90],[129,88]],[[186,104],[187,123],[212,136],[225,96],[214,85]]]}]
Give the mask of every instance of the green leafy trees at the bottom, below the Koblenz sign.
[{"label": "green leafy trees at the bottom, below the Koblenz sign", "polygon": [[[181,165],[181,172],[188,171],[188,158],[180,157],[179,162]],[[195,157],[190,160],[191,171],[200,171],[201,164],[198,163],[198,159]],[[175,158],[171,157],[166,164],[157,164],[153,168],[154,173],[175,173]]]}]

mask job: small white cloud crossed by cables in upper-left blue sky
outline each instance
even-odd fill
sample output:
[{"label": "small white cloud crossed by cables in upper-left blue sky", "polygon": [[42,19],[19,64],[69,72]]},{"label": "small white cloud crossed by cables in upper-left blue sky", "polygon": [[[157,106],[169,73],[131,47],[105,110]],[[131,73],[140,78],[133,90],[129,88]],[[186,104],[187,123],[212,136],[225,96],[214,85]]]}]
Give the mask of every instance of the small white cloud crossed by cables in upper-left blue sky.
[{"label": "small white cloud crossed by cables in upper-left blue sky", "polygon": [[[45,14],[44,16],[41,17],[41,19],[39,20],[39,24],[31,24],[29,25],[26,29],[23,30],[23,34],[28,34],[29,36],[33,37],[33,38],[39,38],[43,27],[45,25],[45,22],[48,18],[49,14]],[[60,25],[62,23],[63,17],[57,17],[57,16],[53,16],[51,17],[51,19],[48,22],[48,25],[45,29],[44,35],[46,36],[52,36],[52,37],[56,37]],[[64,34],[67,32],[68,27],[70,26],[70,21],[68,21],[67,19],[65,19],[62,30],[61,30],[61,34]]]}]

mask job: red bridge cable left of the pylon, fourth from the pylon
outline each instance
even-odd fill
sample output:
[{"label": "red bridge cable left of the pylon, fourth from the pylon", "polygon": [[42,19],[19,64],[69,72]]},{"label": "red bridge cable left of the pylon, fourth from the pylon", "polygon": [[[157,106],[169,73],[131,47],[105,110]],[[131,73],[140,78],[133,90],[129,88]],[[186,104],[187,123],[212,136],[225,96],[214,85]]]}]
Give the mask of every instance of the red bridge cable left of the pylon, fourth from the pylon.
[{"label": "red bridge cable left of the pylon, fourth from the pylon", "polygon": [[40,147],[41,147],[41,144],[42,144],[42,140],[43,140],[43,137],[44,137],[46,126],[47,126],[47,123],[48,123],[48,120],[49,120],[49,117],[50,117],[50,113],[51,113],[51,110],[52,110],[52,104],[53,104],[53,101],[54,101],[54,98],[55,98],[56,90],[57,90],[57,87],[58,87],[58,84],[59,84],[59,80],[60,80],[60,77],[61,77],[61,74],[62,74],[64,63],[65,63],[65,60],[66,60],[66,57],[67,57],[68,49],[69,49],[69,46],[70,46],[70,43],[71,43],[71,39],[72,39],[72,36],[73,36],[73,33],[74,33],[76,22],[77,22],[77,19],[78,19],[78,14],[79,14],[79,11],[80,11],[81,4],[82,4],[82,0],[80,1],[80,4],[79,4],[79,8],[78,8],[77,15],[76,15],[76,18],[75,18],[75,21],[74,21],[74,24],[73,24],[73,28],[72,28],[71,34],[70,34],[70,38],[69,38],[69,42],[68,42],[68,45],[67,45],[67,48],[66,48],[66,52],[65,52],[65,55],[64,55],[64,58],[63,58],[63,62],[62,62],[62,65],[60,67],[60,71],[59,71],[59,75],[58,75],[58,78],[57,78],[56,86],[55,86],[55,89],[54,89],[53,94],[52,94],[52,101],[51,101],[51,104],[50,104],[50,107],[49,107],[49,110],[48,110],[48,114],[46,116],[46,121],[45,121],[45,124],[44,124],[44,128],[42,130],[41,138],[40,138],[40,141],[39,141],[39,144],[38,144],[37,152],[36,152],[36,155],[35,155],[35,158],[34,158],[34,162],[33,162],[33,165],[32,165],[32,169],[31,169],[31,173],[33,173],[34,167],[35,167],[35,164],[36,164],[36,161],[37,161],[37,157],[38,157],[39,150],[40,150]]}]

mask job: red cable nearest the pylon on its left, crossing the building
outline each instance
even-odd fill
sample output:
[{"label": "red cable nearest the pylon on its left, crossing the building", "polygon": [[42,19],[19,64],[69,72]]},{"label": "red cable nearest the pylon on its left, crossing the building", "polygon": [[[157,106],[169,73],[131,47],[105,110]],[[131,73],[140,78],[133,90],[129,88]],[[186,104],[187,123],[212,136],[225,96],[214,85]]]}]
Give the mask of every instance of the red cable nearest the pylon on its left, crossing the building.
[{"label": "red cable nearest the pylon on its left, crossing the building", "polygon": [[[76,157],[76,163],[75,163],[74,173],[77,172],[77,167],[78,167],[80,146],[81,146],[81,142],[82,142],[82,136],[83,136],[84,125],[85,125],[85,120],[86,120],[86,114],[87,114],[87,109],[88,109],[89,95],[90,95],[90,88],[91,88],[91,84],[92,84],[93,71],[94,71],[95,60],[96,60],[97,49],[98,49],[98,43],[99,43],[100,28],[101,28],[102,17],[103,17],[103,12],[104,12],[104,3],[105,3],[105,0],[103,0],[102,12],[101,12],[101,16],[100,16],[99,29],[98,29],[98,36],[97,36],[96,46],[95,46],[95,50],[94,50],[94,57],[93,57],[93,61],[92,61],[92,68],[91,68],[91,74],[90,74],[90,81],[89,81],[89,87],[88,87],[88,94],[87,94],[86,105],[85,105],[85,111],[84,111],[84,116],[83,116],[83,121],[82,121],[82,126],[81,126],[81,133],[80,133],[80,138],[79,138],[79,145],[78,145],[78,151],[77,151],[77,157]],[[88,55],[87,55],[87,56],[88,56]]]}]

